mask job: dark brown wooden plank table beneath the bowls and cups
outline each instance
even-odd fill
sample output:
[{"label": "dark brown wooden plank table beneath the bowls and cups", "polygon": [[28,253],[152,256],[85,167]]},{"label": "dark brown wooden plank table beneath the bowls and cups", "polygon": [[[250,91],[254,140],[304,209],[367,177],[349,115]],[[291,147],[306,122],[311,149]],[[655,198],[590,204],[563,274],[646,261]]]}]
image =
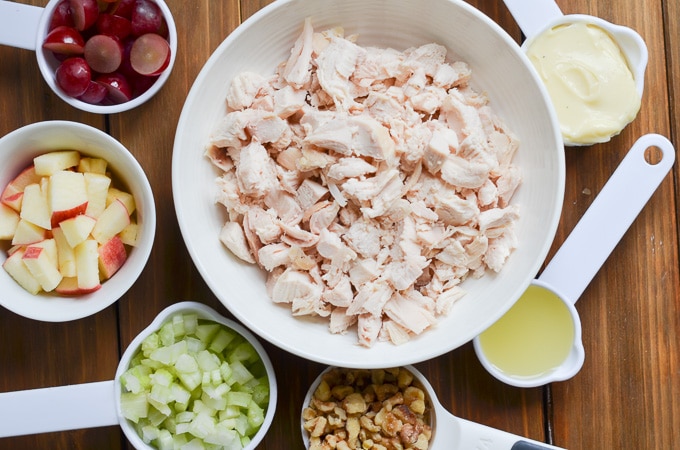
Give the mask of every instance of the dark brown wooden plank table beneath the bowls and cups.
[{"label": "dark brown wooden plank table beneath the bowls and cups", "polygon": [[[162,308],[179,300],[198,300],[228,314],[184,247],[172,202],[172,147],[185,96],[200,68],[240,22],[266,3],[168,0],[179,33],[174,71],[152,101],[111,116],[66,105],[41,78],[32,52],[0,48],[0,133],[50,119],[106,130],[146,170],[158,213],[149,263],[115,305],[68,323],[36,322],[0,310],[0,391],[111,379],[133,337]],[[519,28],[500,0],[470,3],[520,42]],[[649,66],[637,119],[607,144],[566,150],[566,197],[553,251],[640,135],[660,133],[677,145],[680,132],[680,3],[558,0],[558,4],[564,13],[593,14],[636,29],[649,47]],[[448,410],[573,449],[671,449],[680,445],[679,174],[676,164],[577,304],[587,355],[581,372],[542,388],[513,388],[488,375],[467,344],[417,365]],[[301,448],[302,399],[322,366],[265,345],[277,372],[279,404],[260,447]],[[11,414],[0,411],[0,420],[8,420]],[[0,439],[0,448],[7,449],[129,447],[116,426]]]}]

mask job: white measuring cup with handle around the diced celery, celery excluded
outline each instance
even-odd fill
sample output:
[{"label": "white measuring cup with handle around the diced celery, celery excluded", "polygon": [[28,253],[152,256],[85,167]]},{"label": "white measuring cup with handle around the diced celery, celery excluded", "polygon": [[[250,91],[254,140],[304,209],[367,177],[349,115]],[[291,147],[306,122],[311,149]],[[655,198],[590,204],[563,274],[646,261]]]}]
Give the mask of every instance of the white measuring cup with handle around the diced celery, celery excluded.
[{"label": "white measuring cup with handle around the diced celery, celery excluded", "polygon": [[211,320],[236,331],[252,344],[262,359],[269,378],[269,405],[264,422],[246,447],[255,449],[271,426],[276,410],[277,384],[271,360],[264,347],[245,327],[223,317],[209,306],[190,301],[165,308],[130,342],[118,363],[113,380],[0,393],[0,411],[8,412],[0,421],[0,438],[120,425],[128,441],[137,450],[153,450],[154,447],[146,444],[137,433],[134,424],[123,416],[120,377],[130,366],[144,339],[158,331],[175,314],[182,313],[194,313],[199,319]]}]

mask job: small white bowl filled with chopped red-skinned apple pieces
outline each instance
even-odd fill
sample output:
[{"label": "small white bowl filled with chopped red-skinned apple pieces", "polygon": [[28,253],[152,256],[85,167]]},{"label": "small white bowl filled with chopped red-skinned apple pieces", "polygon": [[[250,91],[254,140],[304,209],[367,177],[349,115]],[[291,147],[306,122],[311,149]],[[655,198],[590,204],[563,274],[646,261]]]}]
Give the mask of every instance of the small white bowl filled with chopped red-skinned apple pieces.
[{"label": "small white bowl filled with chopped red-skinned apple pieces", "polygon": [[125,294],[156,229],[134,156],[96,128],[48,121],[2,137],[0,161],[0,305],[64,322]]}]

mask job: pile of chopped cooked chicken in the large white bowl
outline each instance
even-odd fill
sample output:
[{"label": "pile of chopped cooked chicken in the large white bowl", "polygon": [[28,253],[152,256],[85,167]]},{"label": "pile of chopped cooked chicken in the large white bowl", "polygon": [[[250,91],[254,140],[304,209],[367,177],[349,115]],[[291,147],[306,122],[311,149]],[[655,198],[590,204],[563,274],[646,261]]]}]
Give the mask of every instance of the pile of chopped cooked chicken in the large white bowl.
[{"label": "pile of chopped cooked chicken in the large white bowl", "polygon": [[446,48],[361,47],[306,20],[272,76],[244,72],[206,157],[219,239],[272,301],[360,345],[436,325],[517,247],[517,137]]}]

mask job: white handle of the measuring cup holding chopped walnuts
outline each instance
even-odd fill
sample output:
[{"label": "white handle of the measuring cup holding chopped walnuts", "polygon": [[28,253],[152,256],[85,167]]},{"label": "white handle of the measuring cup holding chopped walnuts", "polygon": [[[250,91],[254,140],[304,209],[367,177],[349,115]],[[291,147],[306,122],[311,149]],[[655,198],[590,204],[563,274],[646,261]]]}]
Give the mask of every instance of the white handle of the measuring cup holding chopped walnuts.
[{"label": "white handle of the measuring cup holding chopped walnuts", "polygon": [[[451,447],[447,442],[447,448],[483,448],[485,450],[539,450],[559,449],[553,445],[527,439],[507,431],[487,427],[476,422],[455,417],[458,428],[457,445]],[[440,427],[437,427],[439,433]]]}]

